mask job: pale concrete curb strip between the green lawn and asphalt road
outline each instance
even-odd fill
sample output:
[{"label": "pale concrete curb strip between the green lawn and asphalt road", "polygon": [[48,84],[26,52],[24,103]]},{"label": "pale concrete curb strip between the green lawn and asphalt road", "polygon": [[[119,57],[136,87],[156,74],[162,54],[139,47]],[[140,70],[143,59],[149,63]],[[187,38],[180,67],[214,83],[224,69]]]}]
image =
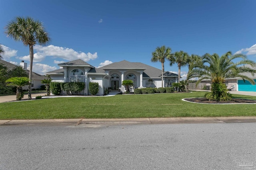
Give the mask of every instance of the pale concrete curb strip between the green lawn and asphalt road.
[{"label": "pale concrete curb strip between the green lawn and asphalt road", "polygon": [[43,119],[43,120],[0,120],[0,125],[133,125],[173,123],[252,123],[256,117],[170,117],[133,119]]}]

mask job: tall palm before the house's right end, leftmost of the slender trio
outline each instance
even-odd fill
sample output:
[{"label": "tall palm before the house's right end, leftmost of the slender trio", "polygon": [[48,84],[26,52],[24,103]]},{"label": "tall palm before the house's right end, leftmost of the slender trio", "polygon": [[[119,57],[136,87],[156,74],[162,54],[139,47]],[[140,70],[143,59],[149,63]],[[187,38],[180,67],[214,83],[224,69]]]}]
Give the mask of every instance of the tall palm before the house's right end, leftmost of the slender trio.
[{"label": "tall palm before the house's right end, leftmost of the slender trio", "polygon": [[162,47],[156,47],[156,51],[152,52],[151,62],[160,61],[162,63],[162,87],[164,87],[164,62],[165,59],[171,59],[171,51],[172,49],[170,47],[166,48],[163,45]]}]

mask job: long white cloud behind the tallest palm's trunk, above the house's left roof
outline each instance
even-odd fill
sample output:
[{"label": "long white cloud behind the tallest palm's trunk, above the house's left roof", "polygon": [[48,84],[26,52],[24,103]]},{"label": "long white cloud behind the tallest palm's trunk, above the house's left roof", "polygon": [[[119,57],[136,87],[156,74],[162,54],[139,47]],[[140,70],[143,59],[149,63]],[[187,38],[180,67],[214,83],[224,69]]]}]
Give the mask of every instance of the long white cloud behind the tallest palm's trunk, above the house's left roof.
[{"label": "long white cloud behind the tallest palm's trunk, above the house's left roof", "polygon": [[[84,61],[94,60],[98,57],[97,53],[84,53],[82,51],[74,51],[74,49],[66,48],[66,47],[58,47],[54,45],[48,45],[43,47],[41,45],[34,46],[34,62],[40,62],[45,59],[46,56],[58,57],[61,59],[65,59],[68,61],[82,59]],[[29,61],[29,55],[24,57],[18,57],[18,59]]]}]

